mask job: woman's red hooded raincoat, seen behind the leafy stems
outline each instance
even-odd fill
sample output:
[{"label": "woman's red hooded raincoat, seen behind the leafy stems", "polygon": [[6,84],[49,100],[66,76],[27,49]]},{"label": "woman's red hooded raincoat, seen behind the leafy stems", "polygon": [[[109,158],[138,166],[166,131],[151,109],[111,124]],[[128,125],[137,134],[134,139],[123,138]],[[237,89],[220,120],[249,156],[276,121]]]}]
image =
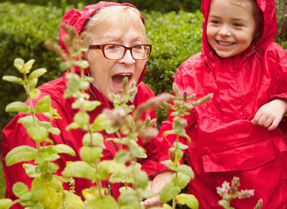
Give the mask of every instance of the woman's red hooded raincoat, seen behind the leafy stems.
[{"label": "woman's red hooded raincoat, seen behind the leafy stems", "polygon": [[[114,6],[114,5],[129,5],[134,7],[131,4],[118,4],[113,2],[99,2],[95,5],[86,6],[82,11],[78,11],[76,9],[70,9],[65,14],[63,21],[66,24],[72,25],[77,28],[77,32],[82,32],[82,27],[84,26],[85,22],[88,20],[94,12],[96,12],[99,8],[104,6]],[[142,17],[141,17],[142,18]],[[143,23],[144,19],[142,18]],[[65,51],[65,45],[63,43],[63,34],[65,32],[60,28],[59,34],[59,44],[61,48]],[[88,69],[86,69],[88,72]],[[147,99],[154,97],[154,92],[146,84],[141,82],[143,75],[145,72],[145,68],[143,69],[142,75],[138,81],[137,93],[133,100],[133,104],[137,107],[141,102],[146,101]],[[69,72],[67,72],[69,73]],[[65,73],[65,74],[67,74]],[[33,100],[34,105],[38,100],[46,95],[50,95],[51,97],[51,107],[57,109],[59,115],[63,119],[54,119],[52,121],[53,127],[57,127],[61,130],[61,134],[59,136],[56,135],[49,135],[49,138],[53,140],[55,144],[66,144],[71,146],[76,152],[76,156],[70,156],[68,154],[60,154],[61,158],[55,163],[59,165],[59,170],[57,171],[57,175],[61,175],[61,172],[65,168],[67,161],[76,161],[81,160],[79,156],[79,150],[82,147],[82,138],[84,133],[79,129],[72,129],[70,131],[66,131],[67,125],[73,122],[73,116],[77,113],[76,109],[71,108],[71,104],[74,102],[74,98],[64,99],[63,92],[66,89],[66,82],[67,79],[65,78],[65,74],[56,80],[47,82],[43,84],[38,89],[41,90],[40,97],[36,100]],[[97,107],[94,111],[90,112],[90,121],[94,121],[94,119],[102,112],[104,108],[112,109],[112,105],[102,93],[98,91],[98,89],[91,84],[90,88],[86,91],[90,95],[90,100],[98,100],[102,102],[102,105]],[[27,102],[27,101],[26,101]],[[3,164],[4,169],[4,177],[6,181],[6,193],[5,197],[15,200],[15,196],[12,192],[12,186],[14,183],[18,181],[24,182],[28,187],[31,187],[31,182],[33,179],[29,178],[24,168],[22,167],[23,163],[18,163],[12,165],[11,167],[7,167],[5,164],[5,156],[7,153],[12,150],[13,148],[21,145],[29,145],[32,147],[36,147],[35,142],[30,138],[30,136],[26,133],[26,129],[24,126],[17,121],[25,116],[23,113],[19,113],[4,129],[1,136],[1,162]],[[48,119],[42,114],[36,114],[39,120],[48,121]],[[146,116],[150,116],[152,119],[156,118],[156,111],[151,110],[149,112],[145,112],[142,115],[142,118],[145,119]],[[101,132],[105,138],[112,137],[115,138],[115,135],[110,134],[108,135],[106,132]],[[146,171],[150,178],[152,179],[155,175],[156,165],[158,164],[158,160],[156,158],[156,146],[154,143],[154,139],[150,143],[144,143],[141,139],[137,142],[140,146],[147,150],[147,158],[140,158],[138,162],[141,164],[141,169]],[[41,143],[42,145],[42,143]],[[113,141],[105,141],[104,145],[106,146],[106,150],[103,151],[102,160],[112,160],[115,153],[119,150],[119,144]],[[32,162],[31,162],[32,163]],[[95,186],[95,183],[88,179],[81,179],[75,178],[75,190],[76,194],[82,196],[82,189],[89,188],[91,186]],[[117,198],[119,196],[119,187],[123,186],[122,183],[109,183],[108,179],[102,181],[103,187],[109,188],[109,193]],[[111,186],[111,187],[110,187]],[[64,189],[69,190],[69,185],[64,184]],[[15,208],[22,208],[22,206],[13,205],[13,209]]]}]

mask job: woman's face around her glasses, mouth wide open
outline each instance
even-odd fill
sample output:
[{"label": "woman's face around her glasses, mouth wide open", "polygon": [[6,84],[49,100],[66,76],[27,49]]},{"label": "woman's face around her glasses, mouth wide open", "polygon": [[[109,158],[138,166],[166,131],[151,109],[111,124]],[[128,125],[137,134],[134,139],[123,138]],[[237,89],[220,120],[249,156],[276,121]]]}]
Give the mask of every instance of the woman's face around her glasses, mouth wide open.
[{"label": "woman's face around her glasses, mouth wide open", "polygon": [[[133,25],[123,36],[120,37],[120,34],[121,28],[114,25],[112,28],[108,28],[102,37],[92,39],[91,45],[112,43],[131,47],[145,44],[144,37],[137,32]],[[113,102],[110,93],[121,93],[123,78],[128,77],[129,84],[132,80],[137,82],[146,63],[146,60],[134,60],[129,50],[119,60],[106,59],[101,50],[90,49],[88,53],[90,53],[89,71],[95,79],[95,86],[110,102]]]}]

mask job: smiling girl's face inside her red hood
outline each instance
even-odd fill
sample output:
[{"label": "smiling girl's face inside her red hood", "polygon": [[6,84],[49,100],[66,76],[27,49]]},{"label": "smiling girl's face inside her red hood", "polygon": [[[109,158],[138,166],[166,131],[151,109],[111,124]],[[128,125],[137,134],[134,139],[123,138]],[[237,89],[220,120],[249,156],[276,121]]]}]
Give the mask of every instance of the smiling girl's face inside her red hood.
[{"label": "smiling girl's face inside her red hood", "polygon": [[253,3],[233,5],[230,0],[213,0],[207,20],[206,35],[220,57],[230,57],[247,49],[254,37],[256,21]]}]

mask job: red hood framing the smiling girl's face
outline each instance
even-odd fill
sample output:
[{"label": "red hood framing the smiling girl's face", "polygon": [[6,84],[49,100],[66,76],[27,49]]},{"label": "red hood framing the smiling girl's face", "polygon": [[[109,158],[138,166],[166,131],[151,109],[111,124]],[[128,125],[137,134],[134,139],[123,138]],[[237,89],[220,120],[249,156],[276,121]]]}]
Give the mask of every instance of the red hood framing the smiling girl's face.
[{"label": "red hood framing the smiling girl's face", "polygon": [[[201,1],[201,11],[203,13],[203,34],[201,41],[201,52],[205,59],[205,62],[214,69],[216,61],[222,60],[221,57],[216,56],[211,53],[210,46],[207,42],[206,37],[206,22],[208,18],[209,5],[211,0],[202,0]],[[261,11],[263,12],[263,19],[260,24],[264,25],[264,30],[262,37],[259,41],[256,42],[255,51],[258,50],[266,42],[274,41],[275,35],[277,33],[277,19],[275,14],[275,3],[272,0],[256,0]],[[267,23],[267,24],[266,24]],[[241,66],[243,62],[246,61],[247,57],[253,54],[255,51],[251,50],[255,42],[252,42],[251,45],[243,52],[234,55],[236,60],[238,60],[238,66]],[[252,51],[252,52],[251,52]],[[251,53],[250,53],[251,52]]]}]

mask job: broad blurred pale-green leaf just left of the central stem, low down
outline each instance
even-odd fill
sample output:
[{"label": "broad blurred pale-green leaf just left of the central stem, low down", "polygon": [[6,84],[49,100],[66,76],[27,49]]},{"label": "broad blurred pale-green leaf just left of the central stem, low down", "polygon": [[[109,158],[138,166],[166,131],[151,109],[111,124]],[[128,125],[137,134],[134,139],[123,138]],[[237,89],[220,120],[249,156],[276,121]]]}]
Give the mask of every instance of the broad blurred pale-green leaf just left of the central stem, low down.
[{"label": "broad blurred pale-green leaf just left of the central stem, low down", "polygon": [[84,161],[75,161],[68,164],[63,171],[63,176],[91,180],[96,180],[97,177],[95,169]]}]

